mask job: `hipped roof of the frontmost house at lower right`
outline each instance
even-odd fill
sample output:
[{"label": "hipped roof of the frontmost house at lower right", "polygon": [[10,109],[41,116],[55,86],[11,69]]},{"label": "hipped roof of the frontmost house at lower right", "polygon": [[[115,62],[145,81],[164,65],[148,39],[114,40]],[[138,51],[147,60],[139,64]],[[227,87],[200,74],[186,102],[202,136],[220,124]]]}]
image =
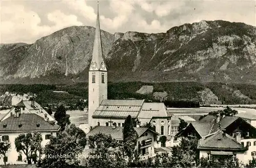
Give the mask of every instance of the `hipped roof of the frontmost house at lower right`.
[{"label": "hipped roof of the frontmost house at lower right", "polygon": [[200,139],[197,148],[201,150],[246,151],[246,148],[237,142],[236,139],[222,131]]}]

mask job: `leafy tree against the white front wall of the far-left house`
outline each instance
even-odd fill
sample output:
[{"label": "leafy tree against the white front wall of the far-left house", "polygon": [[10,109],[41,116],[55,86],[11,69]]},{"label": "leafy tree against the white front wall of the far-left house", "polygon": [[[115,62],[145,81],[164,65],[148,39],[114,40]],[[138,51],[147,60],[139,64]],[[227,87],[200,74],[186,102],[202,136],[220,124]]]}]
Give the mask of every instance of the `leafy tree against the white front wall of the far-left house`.
[{"label": "leafy tree against the white front wall of the far-left house", "polygon": [[[41,141],[42,136],[40,133],[31,133],[28,134],[20,134],[18,137],[15,138],[15,147],[16,151],[22,151],[26,157],[28,164],[32,164],[37,162],[37,152],[41,152]],[[40,159],[39,159],[40,162]]]}]

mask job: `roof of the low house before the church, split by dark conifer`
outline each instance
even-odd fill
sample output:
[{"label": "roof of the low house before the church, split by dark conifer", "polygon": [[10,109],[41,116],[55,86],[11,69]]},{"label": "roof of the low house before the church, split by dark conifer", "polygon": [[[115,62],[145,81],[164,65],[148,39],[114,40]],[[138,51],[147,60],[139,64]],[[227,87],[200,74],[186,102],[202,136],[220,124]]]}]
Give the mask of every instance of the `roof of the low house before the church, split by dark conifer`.
[{"label": "roof of the low house before the church, split by dark conifer", "polygon": [[[135,131],[138,133],[139,137],[147,130],[150,130],[148,128],[143,127],[134,127]],[[153,133],[158,134],[157,132],[150,130]],[[103,133],[105,135],[111,135],[113,139],[116,140],[123,140],[123,127],[110,127],[110,126],[97,126],[92,131],[90,131],[86,136],[93,136],[98,133]]]}]

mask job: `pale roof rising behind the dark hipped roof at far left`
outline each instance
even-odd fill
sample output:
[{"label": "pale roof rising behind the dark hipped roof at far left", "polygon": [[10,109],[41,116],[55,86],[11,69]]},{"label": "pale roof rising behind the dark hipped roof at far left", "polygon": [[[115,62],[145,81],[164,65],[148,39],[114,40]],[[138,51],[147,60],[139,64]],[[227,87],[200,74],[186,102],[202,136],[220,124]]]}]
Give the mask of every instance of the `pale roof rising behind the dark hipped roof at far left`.
[{"label": "pale roof rising behind the dark hipped roof at far left", "polygon": [[17,103],[9,112],[7,112],[4,116],[1,117],[1,120],[4,119],[8,114],[10,114],[10,112],[16,107],[25,107],[26,109],[28,109],[28,111],[30,113],[35,113],[39,116],[41,116],[42,118],[45,118],[45,114],[47,114],[47,117],[49,118],[49,121],[55,121],[55,119],[48,114],[48,112],[42,108],[37,102],[34,101],[34,106],[32,106],[32,101],[20,101],[19,103]]}]

